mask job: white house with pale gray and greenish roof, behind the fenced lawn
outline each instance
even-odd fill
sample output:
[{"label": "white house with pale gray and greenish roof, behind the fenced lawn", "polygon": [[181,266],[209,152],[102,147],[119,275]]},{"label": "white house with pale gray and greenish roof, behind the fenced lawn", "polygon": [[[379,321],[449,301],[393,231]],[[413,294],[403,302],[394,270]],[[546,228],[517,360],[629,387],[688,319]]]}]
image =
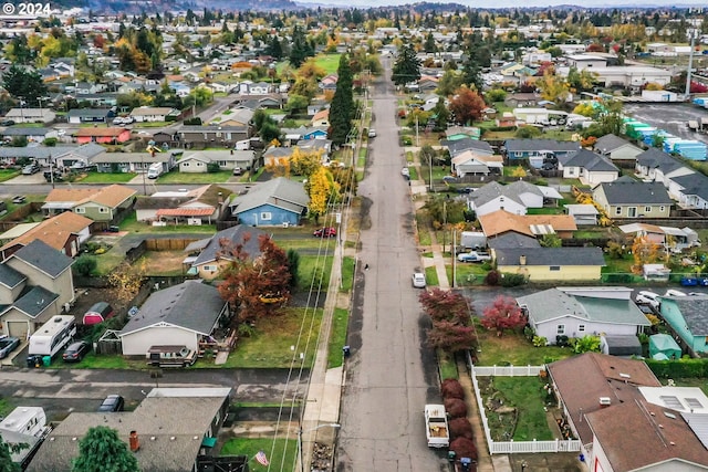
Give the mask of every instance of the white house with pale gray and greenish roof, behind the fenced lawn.
[{"label": "white house with pale gray and greenish roof, behind the fenced lawn", "polygon": [[[525,311],[535,334],[545,337],[551,345],[556,344],[556,336],[580,338],[603,335],[627,338],[639,348],[638,354],[642,354],[637,334],[650,326],[644,313],[632,301],[629,289],[549,289],[517,297],[517,303]],[[610,354],[615,353],[611,349]]]}]

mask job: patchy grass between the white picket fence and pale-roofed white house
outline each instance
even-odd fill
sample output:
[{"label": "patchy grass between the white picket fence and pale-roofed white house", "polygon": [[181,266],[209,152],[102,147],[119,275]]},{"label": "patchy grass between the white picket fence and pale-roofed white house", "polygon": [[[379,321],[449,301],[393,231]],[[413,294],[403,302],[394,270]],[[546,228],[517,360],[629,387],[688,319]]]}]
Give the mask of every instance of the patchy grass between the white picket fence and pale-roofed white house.
[{"label": "patchy grass between the white picket fence and pale-roofed white house", "polygon": [[480,366],[540,366],[573,355],[570,348],[534,347],[519,333],[506,332],[503,336],[497,337],[494,331],[488,331],[479,323],[476,326],[481,349],[477,353],[477,364]]}]

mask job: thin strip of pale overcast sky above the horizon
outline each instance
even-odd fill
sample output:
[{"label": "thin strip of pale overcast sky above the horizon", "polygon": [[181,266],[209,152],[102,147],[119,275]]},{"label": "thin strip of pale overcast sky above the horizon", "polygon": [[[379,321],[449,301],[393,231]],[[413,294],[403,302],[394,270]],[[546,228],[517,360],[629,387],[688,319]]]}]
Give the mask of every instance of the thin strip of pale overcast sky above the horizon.
[{"label": "thin strip of pale overcast sky above the horizon", "polygon": [[[410,0],[294,0],[296,3],[319,3],[337,7],[382,7],[382,6],[398,6],[414,3]],[[447,3],[447,1],[435,1],[433,3]],[[620,7],[620,6],[633,6],[633,7],[656,7],[666,6],[666,1],[656,0],[524,0],[523,2],[513,0],[457,0],[455,3],[477,7],[477,8],[507,8],[507,7],[549,7],[559,4],[576,4],[585,8],[600,8],[600,7]],[[688,6],[698,4],[695,0],[673,0],[673,6]]]}]

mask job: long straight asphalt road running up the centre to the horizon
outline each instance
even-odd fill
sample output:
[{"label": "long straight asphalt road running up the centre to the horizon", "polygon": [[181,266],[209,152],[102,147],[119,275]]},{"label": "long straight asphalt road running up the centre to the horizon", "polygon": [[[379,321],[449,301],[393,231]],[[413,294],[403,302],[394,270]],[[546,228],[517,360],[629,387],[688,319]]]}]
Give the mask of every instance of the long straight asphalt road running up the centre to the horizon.
[{"label": "long straight asphalt road running up the centre to the horizon", "polygon": [[[423,409],[440,402],[435,356],[425,346],[428,321],[412,274],[420,260],[414,211],[395,123],[389,64],[372,94],[372,140],[364,197],[357,296],[353,302],[342,397],[337,471],[445,471],[442,452],[428,449]],[[361,270],[369,264],[368,270]],[[362,286],[363,285],[363,286]]]}]

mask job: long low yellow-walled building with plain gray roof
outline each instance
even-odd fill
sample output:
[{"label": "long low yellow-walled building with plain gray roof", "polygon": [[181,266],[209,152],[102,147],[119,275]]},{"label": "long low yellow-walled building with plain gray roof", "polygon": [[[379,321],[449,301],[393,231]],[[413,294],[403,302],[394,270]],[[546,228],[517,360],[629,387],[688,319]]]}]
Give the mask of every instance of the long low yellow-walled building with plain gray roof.
[{"label": "long low yellow-walled building with plain gray roof", "polygon": [[605,265],[601,248],[501,248],[493,255],[499,272],[532,282],[598,281]]}]

